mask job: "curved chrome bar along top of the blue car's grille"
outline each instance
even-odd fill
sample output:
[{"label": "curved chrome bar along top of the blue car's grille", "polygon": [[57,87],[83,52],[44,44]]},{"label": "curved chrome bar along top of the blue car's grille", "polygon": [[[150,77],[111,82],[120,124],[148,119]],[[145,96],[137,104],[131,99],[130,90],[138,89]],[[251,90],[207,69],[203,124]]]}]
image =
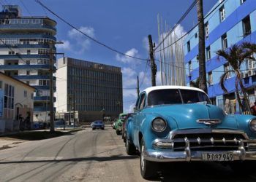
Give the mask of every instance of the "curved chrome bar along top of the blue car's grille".
[{"label": "curved chrome bar along top of the blue car's grille", "polygon": [[249,139],[248,135],[243,130],[227,130],[227,129],[212,129],[212,128],[173,130],[169,132],[169,138],[173,139],[174,136],[177,134],[198,134],[198,133],[241,134],[244,136],[244,138]]}]

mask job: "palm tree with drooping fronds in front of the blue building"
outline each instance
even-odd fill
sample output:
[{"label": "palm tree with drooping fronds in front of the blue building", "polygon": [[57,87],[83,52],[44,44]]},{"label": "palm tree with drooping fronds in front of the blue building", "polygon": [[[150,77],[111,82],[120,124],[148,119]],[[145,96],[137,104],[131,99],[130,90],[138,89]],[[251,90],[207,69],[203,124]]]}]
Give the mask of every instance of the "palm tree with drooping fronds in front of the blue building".
[{"label": "palm tree with drooping fronds in front of the blue building", "polygon": [[241,44],[240,46],[233,44],[230,46],[229,49],[227,50],[218,50],[217,51],[217,55],[221,56],[223,58],[225,58],[225,60],[227,60],[227,63],[229,63],[229,65],[231,66],[231,70],[226,71],[219,80],[219,84],[222,87],[222,90],[224,90],[225,93],[227,93],[227,89],[225,87],[225,79],[227,74],[233,73],[236,75],[236,94],[237,94],[237,98],[238,98],[238,103],[239,106],[242,108],[242,103],[241,103],[241,98],[238,94],[238,84],[241,88],[241,92],[244,95],[244,101],[246,104],[246,110],[250,111],[250,106],[249,106],[249,99],[246,95],[246,90],[244,88],[244,84],[241,80],[241,64],[244,63],[245,60],[255,60],[255,58],[252,57],[252,51],[250,51],[249,49],[246,49],[243,47],[243,44]]}]

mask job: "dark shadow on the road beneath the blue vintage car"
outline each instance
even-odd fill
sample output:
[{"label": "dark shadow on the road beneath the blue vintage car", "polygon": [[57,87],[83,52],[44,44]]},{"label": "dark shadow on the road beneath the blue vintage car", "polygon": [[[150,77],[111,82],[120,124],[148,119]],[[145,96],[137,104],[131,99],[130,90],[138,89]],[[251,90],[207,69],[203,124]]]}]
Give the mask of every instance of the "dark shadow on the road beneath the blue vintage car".
[{"label": "dark shadow on the road beneath the blue vintage car", "polygon": [[[252,166],[253,167],[253,166]],[[156,181],[209,181],[209,182],[251,182],[256,181],[255,175],[234,173],[230,167],[213,163],[173,163],[165,164],[160,169]],[[153,181],[154,181],[153,180]]]}]

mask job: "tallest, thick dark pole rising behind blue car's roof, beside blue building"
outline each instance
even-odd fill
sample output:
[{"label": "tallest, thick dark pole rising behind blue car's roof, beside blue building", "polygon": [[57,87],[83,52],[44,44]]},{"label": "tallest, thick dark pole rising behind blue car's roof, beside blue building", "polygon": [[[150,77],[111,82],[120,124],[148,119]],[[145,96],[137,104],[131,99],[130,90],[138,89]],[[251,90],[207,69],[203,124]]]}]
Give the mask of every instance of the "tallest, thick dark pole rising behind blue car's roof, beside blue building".
[{"label": "tallest, thick dark pole rising behind blue car's roof, beside blue building", "polygon": [[198,52],[199,52],[199,88],[206,93],[206,40],[205,25],[203,21],[203,0],[197,0],[197,21],[198,21]]}]

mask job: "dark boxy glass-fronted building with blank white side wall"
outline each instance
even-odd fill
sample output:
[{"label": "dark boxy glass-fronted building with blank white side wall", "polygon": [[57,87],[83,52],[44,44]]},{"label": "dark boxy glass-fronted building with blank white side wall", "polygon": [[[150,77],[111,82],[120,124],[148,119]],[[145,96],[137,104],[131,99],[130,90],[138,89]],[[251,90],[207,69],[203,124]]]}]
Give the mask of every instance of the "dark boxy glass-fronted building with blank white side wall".
[{"label": "dark boxy glass-fronted building with blank white side wall", "polygon": [[81,124],[123,111],[121,68],[73,58],[60,58],[57,67],[56,118],[72,122],[75,110]]}]

